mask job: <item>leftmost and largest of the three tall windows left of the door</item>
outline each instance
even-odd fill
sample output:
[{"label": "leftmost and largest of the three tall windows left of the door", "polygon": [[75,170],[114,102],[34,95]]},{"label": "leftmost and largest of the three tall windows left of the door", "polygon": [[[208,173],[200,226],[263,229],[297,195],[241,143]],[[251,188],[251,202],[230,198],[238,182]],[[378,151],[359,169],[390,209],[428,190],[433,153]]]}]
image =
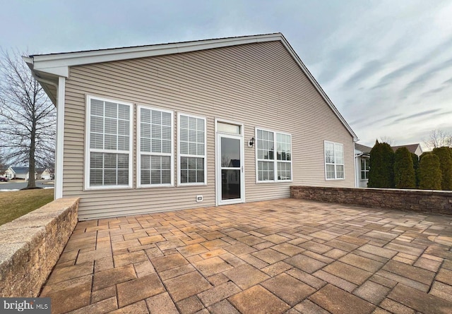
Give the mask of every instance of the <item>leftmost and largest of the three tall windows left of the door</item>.
[{"label": "leftmost and largest of the three tall windows left of the door", "polygon": [[132,104],[87,97],[85,188],[130,188]]}]

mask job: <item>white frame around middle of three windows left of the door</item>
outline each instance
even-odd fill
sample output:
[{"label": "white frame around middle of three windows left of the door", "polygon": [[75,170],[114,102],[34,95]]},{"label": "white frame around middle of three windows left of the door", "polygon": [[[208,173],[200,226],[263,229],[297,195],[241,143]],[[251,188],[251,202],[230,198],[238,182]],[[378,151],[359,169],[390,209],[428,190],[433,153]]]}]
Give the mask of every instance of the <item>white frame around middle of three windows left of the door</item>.
[{"label": "white frame around middle of three windows left of the door", "polygon": [[[171,182],[170,183],[160,183],[160,184],[141,184],[141,109],[149,109],[155,111],[162,111],[171,114]],[[174,186],[174,111],[160,109],[156,107],[147,107],[143,105],[138,105],[136,110],[136,187],[137,188],[162,188],[162,187],[172,187]],[[143,152],[143,155],[149,156],[168,156],[167,153],[158,152]]]}]

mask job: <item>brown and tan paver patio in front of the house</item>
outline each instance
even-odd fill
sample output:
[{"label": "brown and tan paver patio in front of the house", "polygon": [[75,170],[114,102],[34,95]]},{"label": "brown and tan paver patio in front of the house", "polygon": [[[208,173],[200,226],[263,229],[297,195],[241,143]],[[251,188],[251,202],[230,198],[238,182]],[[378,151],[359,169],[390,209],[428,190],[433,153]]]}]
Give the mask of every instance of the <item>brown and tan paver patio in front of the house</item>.
[{"label": "brown and tan paver patio in front of the house", "polygon": [[79,222],[52,313],[452,313],[452,216],[273,200]]}]

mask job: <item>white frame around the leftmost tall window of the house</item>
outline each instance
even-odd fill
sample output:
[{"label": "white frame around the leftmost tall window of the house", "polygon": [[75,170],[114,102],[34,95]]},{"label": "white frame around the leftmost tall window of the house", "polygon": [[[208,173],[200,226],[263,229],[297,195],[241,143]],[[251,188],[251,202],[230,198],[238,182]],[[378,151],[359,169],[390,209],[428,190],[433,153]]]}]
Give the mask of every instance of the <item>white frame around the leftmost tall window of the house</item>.
[{"label": "white frame around the leftmost tall window of the house", "polygon": [[[99,150],[90,148],[90,125],[91,125],[91,99],[97,99],[101,102],[115,102],[117,104],[124,104],[129,106],[129,151],[122,150]],[[133,104],[130,102],[123,102],[114,99],[107,99],[103,97],[85,96],[85,190],[117,190],[124,188],[132,188],[133,180]],[[128,154],[129,155],[129,184],[120,186],[90,186],[90,152],[103,152],[114,154]]]}]

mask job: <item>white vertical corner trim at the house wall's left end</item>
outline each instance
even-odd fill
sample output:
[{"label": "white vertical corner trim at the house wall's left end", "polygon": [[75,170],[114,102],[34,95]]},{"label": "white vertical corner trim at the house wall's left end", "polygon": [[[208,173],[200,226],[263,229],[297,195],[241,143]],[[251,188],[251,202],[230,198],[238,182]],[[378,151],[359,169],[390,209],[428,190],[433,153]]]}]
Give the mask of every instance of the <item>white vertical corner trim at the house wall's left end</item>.
[{"label": "white vertical corner trim at the house wall's left end", "polygon": [[57,147],[55,150],[54,199],[63,197],[64,98],[66,78],[59,76],[57,90]]}]

